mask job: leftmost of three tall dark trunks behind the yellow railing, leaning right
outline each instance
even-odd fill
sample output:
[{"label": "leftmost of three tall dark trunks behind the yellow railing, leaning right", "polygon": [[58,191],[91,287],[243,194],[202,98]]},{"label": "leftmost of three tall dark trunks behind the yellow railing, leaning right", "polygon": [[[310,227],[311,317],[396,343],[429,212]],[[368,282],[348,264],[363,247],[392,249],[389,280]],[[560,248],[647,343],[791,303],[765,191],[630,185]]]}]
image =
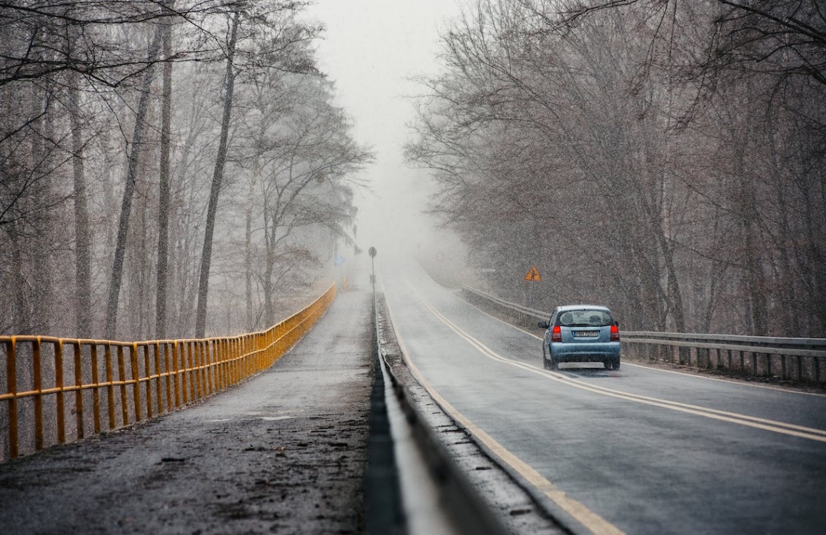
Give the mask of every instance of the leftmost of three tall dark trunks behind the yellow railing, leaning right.
[{"label": "leftmost of three tall dark trunks behind the yellow railing, leaning right", "polygon": [[115,259],[112,263],[112,278],[109,282],[109,299],[107,301],[106,331],[107,339],[114,339],[117,328],[117,301],[121,293],[121,280],[123,278],[123,258],[126,255],[126,235],[129,231],[129,215],[132,209],[132,193],[135,192],[135,179],[138,172],[138,161],[140,152],[143,149],[143,136],[145,130],[146,111],[149,108],[150,87],[152,85],[152,75],[154,67],[152,62],[158,56],[160,50],[160,38],[163,34],[163,26],[155,29],[154,39],[150,45],[147,61],[150,66],[146,68],[144,74],[143,87],[140,90],[140,100],[138,101],[138,111],[135,116],[135,130],[132,134],[132,147],[129,155],[129,167],[126,171],[126,186],[123,190],[123,201],[121,202],[121,220],[117,227],[117,244],[115,245]]}]

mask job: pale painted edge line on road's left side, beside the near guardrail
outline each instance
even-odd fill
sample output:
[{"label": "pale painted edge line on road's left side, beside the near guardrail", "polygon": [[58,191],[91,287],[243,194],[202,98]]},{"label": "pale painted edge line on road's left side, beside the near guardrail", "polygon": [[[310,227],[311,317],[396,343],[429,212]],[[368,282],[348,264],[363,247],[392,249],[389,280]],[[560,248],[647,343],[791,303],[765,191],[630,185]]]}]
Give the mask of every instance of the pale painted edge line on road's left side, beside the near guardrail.
[{"label": "pale painted edge line on road's left side, beside the near guardrail", "polygon": [[[384,291],[383,283],[382,291]],[[387,294],[386,291],[384,293]],[[423,302],[425,303],[425,306],[427,306],[427,303],[425,301]],[[415,376],[416,380],[419,381],[420,385],[425,387],[425,390],[428,391],[430,397],[432,397],[445,412],[450,414],[453,419],[456,419],[465,428],[467,428],[469,433],[476,437],[477,440],[484,443],[491,450],[491,452],[494,452],[496,456],[501,459],[502,462],[505,462],[521,476],[525,477],[525,480],[527,480],[531,485],[534,485],[534,487],[536,487],[544,495],[548,496],[548,498],[551,499],[553,503],[557,504],[560,509],[563,509],[563,511],[570,514],[573,518],[576,518],[577,521],[582,523],[582,525],[591,531],[591,533],[594,533],[595,535],[626,535],[615,525],[606,521],[605,518],[602,518],[600,515],[594,513],[591,509],[588,509],[576,499],[572,499],[562,490],[558,490],[556,485],[553,485],[553,483],[548,481],[538,471],[534,470],[532,466],[529,466],[529,464],[522,461],[519,457],[516,457],[513,453],[506,449],[506,447],[503,447],[500,443],[496,442],[496,440],[489,434],[482,431],[482,428],[479,428],[476,424],[473,424],[469,419],[465,418],[465,416],[456,410],[453,405],[450,405],[447,400],[439,395],[439,392],[435,391],[434,387],[430,385],[430,382],[425,379],[425,376],[419,372],[419,368],[415,367],[415,364],[411,361],[405,344],[401,339],[401,335],[396,330],[396,322],[393,321],[393,313],[390,303],[387,303],[386,301],[386,304],[387,314],[390,316],[390,323],[392,324],[394,334],[396,334],[396,341],[399,343],[399,348],[401,349],[401,354],[405,359],[407,367],[411,369],[413,376]]]}]

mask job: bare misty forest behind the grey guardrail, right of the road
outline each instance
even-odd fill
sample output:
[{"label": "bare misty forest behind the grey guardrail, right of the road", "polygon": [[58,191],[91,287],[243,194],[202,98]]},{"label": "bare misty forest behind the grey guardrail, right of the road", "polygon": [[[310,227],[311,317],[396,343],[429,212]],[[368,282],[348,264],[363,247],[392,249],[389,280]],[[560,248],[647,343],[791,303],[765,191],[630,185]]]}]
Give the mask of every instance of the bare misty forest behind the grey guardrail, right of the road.
[{"label": "bare misty forest behind the grey guardrail, right of the road", "polygon": [[822,0],[477,0],[442,41],[406,158],[491,291],[826,336]]}]

